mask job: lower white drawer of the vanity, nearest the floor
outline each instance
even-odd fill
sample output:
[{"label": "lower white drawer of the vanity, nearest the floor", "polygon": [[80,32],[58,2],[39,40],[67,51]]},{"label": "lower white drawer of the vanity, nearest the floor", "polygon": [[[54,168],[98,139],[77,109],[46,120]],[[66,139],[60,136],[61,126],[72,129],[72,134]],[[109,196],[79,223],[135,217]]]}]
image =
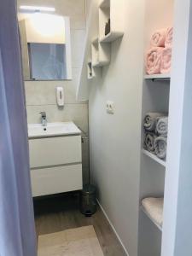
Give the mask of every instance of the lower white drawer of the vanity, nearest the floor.
[{"label": "lower white drawer of the vanity, nearest the floor", "polygon": [[82,189],[82,165],[31,170],[32,196]]}]

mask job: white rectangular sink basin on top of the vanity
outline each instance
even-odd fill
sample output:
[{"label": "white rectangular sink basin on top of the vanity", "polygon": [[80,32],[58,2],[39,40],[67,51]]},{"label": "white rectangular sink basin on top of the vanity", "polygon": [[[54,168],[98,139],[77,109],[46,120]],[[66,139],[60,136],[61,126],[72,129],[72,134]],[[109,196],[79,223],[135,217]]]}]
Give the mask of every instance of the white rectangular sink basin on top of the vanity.
[{"label": "white rectangular sink basin on top of the vanity", "polygon": [[73,122],[48,123],[28,125],[28,137],[54,137],[65,135],[78,135],[81,131]]}]

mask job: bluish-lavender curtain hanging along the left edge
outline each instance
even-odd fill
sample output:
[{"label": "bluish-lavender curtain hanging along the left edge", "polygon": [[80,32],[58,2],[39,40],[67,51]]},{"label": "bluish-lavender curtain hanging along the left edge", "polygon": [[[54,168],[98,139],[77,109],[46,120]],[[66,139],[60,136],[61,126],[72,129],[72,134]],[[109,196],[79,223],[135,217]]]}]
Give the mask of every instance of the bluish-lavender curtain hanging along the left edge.
[{"label": "bluish-lavender curtain hanging along the left edge", "polygon": [[0,1],[0,256],[36,256],[15,0]]}]

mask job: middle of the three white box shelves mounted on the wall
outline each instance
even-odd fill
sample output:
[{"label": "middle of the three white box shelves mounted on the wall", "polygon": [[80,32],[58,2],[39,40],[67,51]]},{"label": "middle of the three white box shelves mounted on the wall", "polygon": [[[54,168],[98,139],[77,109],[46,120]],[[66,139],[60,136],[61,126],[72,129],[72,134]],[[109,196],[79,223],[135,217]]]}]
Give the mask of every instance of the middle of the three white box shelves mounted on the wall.
[{"label": "middle of the three white box shelves mounted on the wall", "polygon": [[94,38],[91,43],[92,67],[108,66],[110,63],[110,45],[102,44],[99,38]]}]

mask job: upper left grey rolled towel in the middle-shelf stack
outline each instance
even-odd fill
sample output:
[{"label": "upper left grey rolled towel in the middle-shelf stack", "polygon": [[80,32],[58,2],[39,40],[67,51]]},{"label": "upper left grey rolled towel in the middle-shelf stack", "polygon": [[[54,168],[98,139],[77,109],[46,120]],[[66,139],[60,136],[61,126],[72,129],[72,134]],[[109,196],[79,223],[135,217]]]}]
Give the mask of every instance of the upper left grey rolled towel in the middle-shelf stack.
[{"label": "upper left grey rolled towel in the middle-shelf stack", "polygon": [[156,121],[159,119],[161,116],[166,116],[165,113],[160,113],[160,112],[148,112],[145,115],[144,118],[144,129],[146,131],[155,131],[156,129]]}]

